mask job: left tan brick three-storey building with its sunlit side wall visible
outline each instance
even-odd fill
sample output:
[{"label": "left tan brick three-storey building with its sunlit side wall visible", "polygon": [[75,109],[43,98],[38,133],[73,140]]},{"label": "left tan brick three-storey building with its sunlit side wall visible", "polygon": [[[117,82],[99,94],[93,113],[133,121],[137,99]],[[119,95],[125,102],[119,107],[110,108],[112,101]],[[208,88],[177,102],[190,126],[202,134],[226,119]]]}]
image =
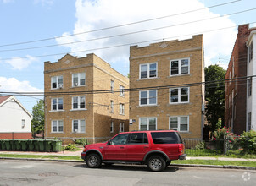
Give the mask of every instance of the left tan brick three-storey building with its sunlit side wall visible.
[{"label": "left tan brick three-storey building with its sunlit side wall visible", "polygon": [[128,131],[129,93],[124,89],[129,79],[95,54],[45,62],[46,139],[98,142]]}]

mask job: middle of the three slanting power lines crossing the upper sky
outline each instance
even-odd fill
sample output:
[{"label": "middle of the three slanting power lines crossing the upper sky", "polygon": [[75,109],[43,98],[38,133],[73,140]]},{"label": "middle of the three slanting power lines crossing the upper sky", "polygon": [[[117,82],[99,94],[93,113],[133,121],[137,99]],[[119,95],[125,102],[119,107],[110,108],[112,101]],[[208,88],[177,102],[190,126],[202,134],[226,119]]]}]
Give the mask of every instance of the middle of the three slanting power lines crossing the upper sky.
[{"label": "middle of the three slanting power lines crossing the upper sky", "polygon": [[166,28],[170,28],[170,27],[175,27],[175,26],[180,26],[180,25],[188,25],[188,24],[198,23],[198,22],[201,22],[201,21],[209,20],[209,19],[223,18],[223,17],[226,17],[226,16],[234,15],[234,14],[242,14],[242,13],[245,13],[245,12],[248,12],[248,11],[253,11],[255,9],[256,8],[250,8],[250,9],[242,10],[240,12],[219,15],[219,16],[215,16],[215,17],[211,17],[211,18],[207,18],[207,19],[198,19],[198,20],[194,20],[194,21],[189,21],[189,22],[181,23],[181,24],[167,25],[167,26],[162,26],[162,27],[153,28],[153,29],[147,29],[147,30],[139,30],[139,31],[124,33],[124,34],[114,35],[114,36],[103,36],[103,37],[88,39],[88,40],[84,40],[84,41],[73,41],[73,42],[66,42],[66,43],[62,43],[62,44],[54,44],[54,45],[47,45],[47,46],[40,46],[40,47],[26,47],[26,48],[5,49],[5,50],[0,50],[0,52],[23,51],[23,50],[31,50],[31,49],[38,49],[38,48],[44,48],[44,47],[58,47],[58,46],[70,45],[70,44],[87,42],[87,41],[97,41],[97,40],[108,39],[108,38],[113,38],[113,37],[127,36],[127,35],[147,32],[147,31],[162,30],[162,29],[166,29]]}]

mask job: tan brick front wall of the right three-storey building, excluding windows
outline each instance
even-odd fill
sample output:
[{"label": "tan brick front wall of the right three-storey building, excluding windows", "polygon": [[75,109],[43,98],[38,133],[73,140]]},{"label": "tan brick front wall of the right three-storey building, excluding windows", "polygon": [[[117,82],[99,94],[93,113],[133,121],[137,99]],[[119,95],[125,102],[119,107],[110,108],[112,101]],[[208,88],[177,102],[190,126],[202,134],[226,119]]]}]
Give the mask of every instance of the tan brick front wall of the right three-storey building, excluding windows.
[{"label": "tan brick front wall of the right three-storey building, excluding windows", "polygon": [[[188,57],[190,59],[189,74],[170,76],[170,60]],[[158,76],[155,79],[140,79],[140,64],[158,63]],[[202,82],[203,75],[203,36],[193,36],[184,41],[164,41],[150,44],[147,47],[130,47],[130,87],[154,87],[164,85],[183,85]],[[188,116],[189,131],[181,133],[183,138],[202,138],[202,104],[204,101],[204,87],[189,88],[189,102],[172,105],[170,90],[157,90],[157,106],[140,107],[139,91],[130,92],[130,118],[135,122],[129,130],[139,129],[139,118],[156,117],[157,129],[169,129],[170,116]]]}]

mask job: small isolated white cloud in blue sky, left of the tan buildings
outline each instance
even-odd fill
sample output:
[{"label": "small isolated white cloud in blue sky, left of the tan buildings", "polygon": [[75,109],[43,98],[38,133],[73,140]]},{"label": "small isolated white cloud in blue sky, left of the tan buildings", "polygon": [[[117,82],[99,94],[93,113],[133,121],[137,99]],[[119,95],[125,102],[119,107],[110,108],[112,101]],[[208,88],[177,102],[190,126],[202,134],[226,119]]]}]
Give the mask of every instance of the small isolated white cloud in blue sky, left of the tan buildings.
[{"label": "small isolated white cloud in blue sky, left of the tan buildings", "polygon": [[28,58],[12,57],[11,59],[5,60],[4,63],[8,63],[13,69],[22,70],[31,65],[31,63],[38,62],[39,60],[35,57],[27,55]]}]

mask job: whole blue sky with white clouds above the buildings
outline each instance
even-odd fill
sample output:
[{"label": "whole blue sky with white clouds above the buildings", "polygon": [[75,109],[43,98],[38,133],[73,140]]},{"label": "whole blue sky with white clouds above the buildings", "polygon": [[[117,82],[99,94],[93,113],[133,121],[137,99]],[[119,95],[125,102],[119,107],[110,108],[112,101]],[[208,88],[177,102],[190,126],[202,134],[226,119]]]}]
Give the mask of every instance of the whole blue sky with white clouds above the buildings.
[{"label": "whole blue sky with white clouds above the buildings", "polygon": [[[255,0],[0,0],[0,94],[43,92],[44,62],[66,53],[95,53],[126,76],[130,46],[198,34],[205,66],[226,69],[237,25],[255,15]],[[42,99],[16,97],[29,112]]]}]

